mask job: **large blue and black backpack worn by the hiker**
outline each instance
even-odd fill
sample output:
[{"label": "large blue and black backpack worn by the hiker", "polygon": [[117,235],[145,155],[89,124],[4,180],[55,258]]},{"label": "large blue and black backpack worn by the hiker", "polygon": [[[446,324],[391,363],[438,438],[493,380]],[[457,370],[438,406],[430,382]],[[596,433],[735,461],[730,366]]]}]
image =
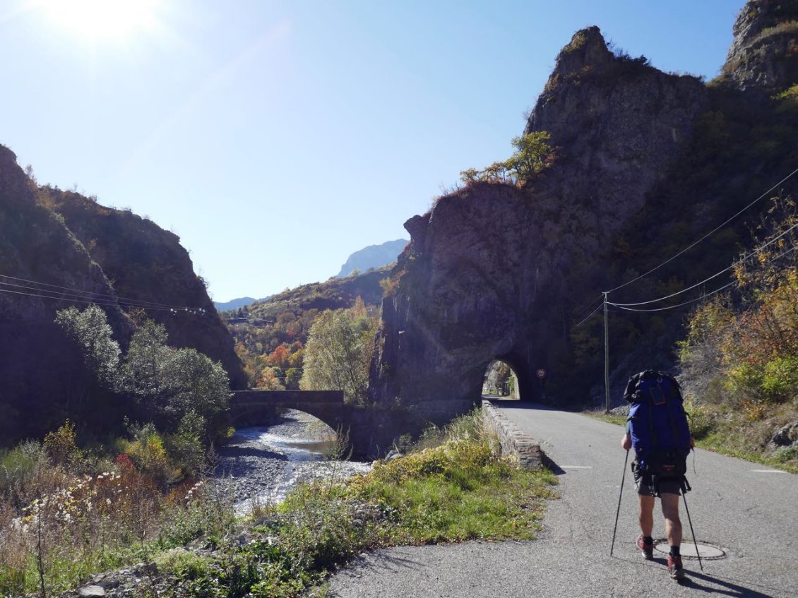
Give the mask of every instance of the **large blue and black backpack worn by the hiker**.
[{"label": "large blue and black backpack worn by the hiker", "polygon": [[646,370],[626,384],[623,398],[631,403],[629,434],[638,470],[657,478],[684,477],[690,452],[690,430],[681,389],[664,372]]}]

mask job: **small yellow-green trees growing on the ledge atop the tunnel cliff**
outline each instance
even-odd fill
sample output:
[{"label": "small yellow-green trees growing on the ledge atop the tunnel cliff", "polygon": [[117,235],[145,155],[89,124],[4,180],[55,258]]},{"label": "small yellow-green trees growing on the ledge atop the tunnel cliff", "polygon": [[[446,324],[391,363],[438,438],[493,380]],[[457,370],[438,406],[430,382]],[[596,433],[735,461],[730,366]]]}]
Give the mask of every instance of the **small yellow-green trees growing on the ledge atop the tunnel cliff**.
[{"label": "small yellow-green trees growing on the ledge atop the tunnel cliff", "polygon": [[515,137],[512,145],[516,151],[508,159],[494,162],[482,170],[468,168],[460,172],[460,179],[466,185],[486,182],[523,187],[554,162],[555,151],[548,144],[550,139],[545,131]]}]

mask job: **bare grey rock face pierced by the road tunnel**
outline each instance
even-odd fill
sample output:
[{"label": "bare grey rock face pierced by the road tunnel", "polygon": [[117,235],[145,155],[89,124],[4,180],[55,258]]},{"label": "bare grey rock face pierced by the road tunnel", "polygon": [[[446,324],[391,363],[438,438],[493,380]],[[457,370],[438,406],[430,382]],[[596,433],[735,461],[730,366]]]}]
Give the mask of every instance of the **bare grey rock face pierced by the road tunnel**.
[{"label": "bare grey rock face pierced by the road tunnel", "polygon": [[[554,165],[523,189],[470,184],[405,223],[372,364],[373,399],[445,420],[480,399],[486,366],[506,361],[522,399],[540,395],[566,350],[566,307],[677,158],[704,109],[704,85],[645,58],[616,57],[597,27],[575,34],[531,114]],[[555,349],[559,348],[559,349]],[[448,405],[444,407],[444,405]]]}]

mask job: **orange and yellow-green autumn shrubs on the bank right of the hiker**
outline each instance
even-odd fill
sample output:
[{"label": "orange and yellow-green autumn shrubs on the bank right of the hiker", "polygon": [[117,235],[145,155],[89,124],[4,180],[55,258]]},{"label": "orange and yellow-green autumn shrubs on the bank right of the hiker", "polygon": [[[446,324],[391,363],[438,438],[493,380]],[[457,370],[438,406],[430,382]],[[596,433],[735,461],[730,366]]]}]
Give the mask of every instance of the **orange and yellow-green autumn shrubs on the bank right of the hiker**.
[{"label": "orange and yellow-green autumn shrubs on the bank right of the hiker", "polygon": [[766,222],[764,248],[734,265],[737,292],[689,317],[681,384],[701,446],[798,471],[796,447],[774,442],[798,422],[796,204],[777,201]]}]

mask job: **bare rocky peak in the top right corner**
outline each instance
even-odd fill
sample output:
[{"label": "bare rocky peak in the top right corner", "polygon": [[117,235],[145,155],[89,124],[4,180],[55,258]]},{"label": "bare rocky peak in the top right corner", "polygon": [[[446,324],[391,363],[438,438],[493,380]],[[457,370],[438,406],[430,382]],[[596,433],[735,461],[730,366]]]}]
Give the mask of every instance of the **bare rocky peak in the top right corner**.
[{"label": "bare rocky peak in the top right corner", "polygon": [[798,79],[798,2],[752,0],[734,23],[722,73],[743,91],[774,92]]}]

